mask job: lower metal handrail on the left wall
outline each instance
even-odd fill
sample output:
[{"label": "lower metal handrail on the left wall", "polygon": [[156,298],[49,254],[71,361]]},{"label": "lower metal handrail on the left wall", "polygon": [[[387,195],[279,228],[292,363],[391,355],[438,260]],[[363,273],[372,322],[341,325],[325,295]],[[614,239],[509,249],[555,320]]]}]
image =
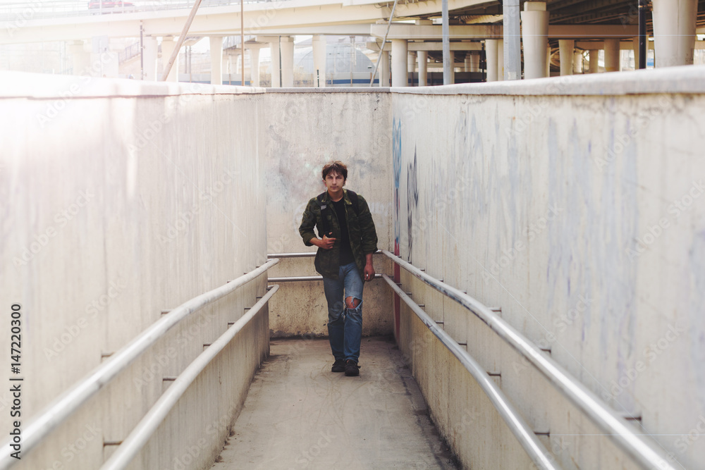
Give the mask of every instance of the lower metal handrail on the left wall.
[{"label": "lower metal handrail on the left wall", "polygon": [[137,426],[133,428],[130,435],[123,440],[120,447],[118,447],[114,454],[100,467],[101,470],[121,470],[132,462],[137,452],[140,452],[154,431],[157,431],[157,428],[161,422],[164,421],[166,415],[171,411],[176,402],[178,402],[181,395],[188,389],[189,385],[195,381],[198,374],[210,364],[210,361],[216,357],[216,354],[221,352],[250,320],[255,318],[255,315],[269,302],[271,296],[274,295],[274,292],[278,289],[278,285],[272,286],[271,290],[247,311],[247,314],[241,316],[238,321],[235,321],[233,326],[228,328],[223,335],[215,340],[212,345],[207,347],[204,352],[199,354],[198,357],[179,374],[176,381],[166,389],[166,392],[159,397],[159,400],[154,403],[154,406],[149,409],[149,412],[142,417],[140,422],[137,423]]}]

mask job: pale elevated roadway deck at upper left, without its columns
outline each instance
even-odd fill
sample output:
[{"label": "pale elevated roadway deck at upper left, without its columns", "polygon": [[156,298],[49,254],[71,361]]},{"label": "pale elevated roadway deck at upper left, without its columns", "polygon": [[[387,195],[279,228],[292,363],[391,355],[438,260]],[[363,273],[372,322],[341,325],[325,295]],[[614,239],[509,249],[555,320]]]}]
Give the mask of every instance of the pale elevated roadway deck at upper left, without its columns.
[{"label": "pale elevated roadway deck at upper left, without its columns", "polygon": [[[456,10],[480,0],[449,0]],[[369,35],[369,25],[387,20],[391,5],[371,1],[286,0],[248,3],[244,6],[245,33]],[[139,37],[143,34],[176,36],[181,32],[189,8],[125,11],[99,16],[62,16],[18,21],[10,20],[0,30],[0,44],[68,41],[94,36]],[[432,16],[441,11],[441,1],[398,4],[396,18]],[[202,6],[189,35],[228,36],[240,33],[240,4]]]}]

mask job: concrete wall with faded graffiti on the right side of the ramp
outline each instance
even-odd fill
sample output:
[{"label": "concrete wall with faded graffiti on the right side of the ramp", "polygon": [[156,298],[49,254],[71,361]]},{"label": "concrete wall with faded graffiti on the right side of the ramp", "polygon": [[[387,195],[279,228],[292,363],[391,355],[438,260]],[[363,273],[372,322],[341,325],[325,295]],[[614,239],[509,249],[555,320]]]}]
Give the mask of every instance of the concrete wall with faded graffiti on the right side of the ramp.
[{"label": "concrete wall with faded graffiti on the right side of the ramp", "polygon": [[[393,94],[395,243],[466,289],[686,468],[704,468],[705,68]],[[424,94],[425,92],[425,94]],[[467,311],[403,276],[565,469],[632,468]],[[477,385],[402,309],[400,347],[472,468],[526,468]],[[418,323],[418,322],[416,322]],[[489,420],[489,421],[488,421]],[[505,462],[497,465],[496,462]],[[678,464],[675,464],[678,466]]]}]

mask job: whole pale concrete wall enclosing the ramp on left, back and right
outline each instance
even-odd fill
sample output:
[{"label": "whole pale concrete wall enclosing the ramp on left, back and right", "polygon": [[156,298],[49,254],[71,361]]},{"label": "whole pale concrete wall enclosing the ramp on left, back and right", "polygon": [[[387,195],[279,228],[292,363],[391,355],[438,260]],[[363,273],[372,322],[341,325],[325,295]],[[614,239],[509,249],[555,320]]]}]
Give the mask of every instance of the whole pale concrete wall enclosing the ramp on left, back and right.
[{"label": "whole pale concrete wall enclosing the ramp on left, back and right", "polygon": [[[350,163],[348,187],[371,203],[380,248],[396,246],[431,276],[502,307],[510,324],[697,468],[704,78],[689,67],[392,94],[236,94],[4,75],[0,288],[6,306],[23,306],[23,417],[161,310],[252,270],[268,252],[310,250],[298,237],[300,214],[323,190],[322,164],[337,158]],[[379,255],[375,262],[393,272]],[[313,275],[312,265],[283,260],[269,276]],[[546,445],[561,465],[631,468],[481,321],[410,276],[402,282],[501,373],[525,419],[550,431]],[[175,328],[20,467],[99,466],[114,448],[104,441],[125,438],[163,390],[162,376],[183,370],[264,285]],[[266,354],[267,330],[325,334],[320,283],[283,285],[274,302],[269,321],[259,317],[204,371],[135,468],[207,466]],[[380,281],[364,302],[364,333],[391,331]],[[400,348],[462,462],[525,468],[474,381],[401,314]],[[9,398],[0,392],[0,412]]]}]

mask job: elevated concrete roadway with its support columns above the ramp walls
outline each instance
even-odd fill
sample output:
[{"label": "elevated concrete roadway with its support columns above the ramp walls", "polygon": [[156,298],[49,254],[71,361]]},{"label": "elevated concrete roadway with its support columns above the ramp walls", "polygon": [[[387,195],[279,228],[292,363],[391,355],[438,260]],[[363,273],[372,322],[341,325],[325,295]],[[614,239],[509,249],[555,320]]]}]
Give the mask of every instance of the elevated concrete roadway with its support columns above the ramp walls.
[{"label": "elevated concrete roadway with its support columns above the ramp walls", "polygon": [[[654,37],[657,66],[692,64],[694,49],[699,48],[695,43],[696,33],[705,32],[705,1],[654,0],[652,4],[653,12],[650,6],[642,8],[642,19],[646,36]],[[162,53],[171,55],[177,46],[174,37],[181,34],[192,2],[163,4],[135,0],[128,6],[93,8],[92,11],[80,1],[21,5],[0,13],[0,18],[5,18],[0,25],[0,44],[74,41],[71,44],[73,70],[85,70],[91,63],[102,61],[90,54],[106,51],[106,48],[97,51],[94,44],[87,44],[87,39],[144,37],[142,78],[156,80],[157,41],[161,40]],[[418,68],[419,85],[427,85],[428,64],[444,60],[438,47],[441,26],[437,19],[441,15],[441,1],[405,0],[394,5],[379,0],[286,0],[244,5],[231,0],[205,1],[188,34],[209,37],[212,83],[222,83],[223,37],[244,32],[257,38],[257,44],[245,44],[250,49],[251,63],[259,63],[259,48],[269,45],[273,70],[279,71],[272,74],[272,86],[292,87],[291,36],[314,36],[314,75],[325,77],[323,35],[372,36],[376,37],[376,42],[381,42],[387,35],[387,23],[394,20],[386,38],[391,42],[391,56],[384,47],[373,47],[381,49],[379,83],[407,86],[407,74]],[[527,1],[523,11],[519,11],[518,5],[513,10],[513,15],[520,14],[522,18],[521,30],[517,23],[515,32],[505,31],[503,27],[504,8],[499,1],[448,0],[450,41],[482,42],[481,47],[455,44],[448,49],[446,54],[453,64],[451,75],[458,63],[465,72],[483,73],[486,81],[503,80],[505,74],[506,78],[542,78],[551,73],[556,75],[558,69],[560,75],[618,71],[620,50],[625,45],[621,42],[627,42],[635,51],[642,40],[648,43],[646,39],[639,39],[639,13],[633,1]],[[521,42],[518,35],[522,37]],[[596,44],[576,47],[576,39],[583,44],[586,41]],[[520,49],[522,54],[517,53]],[[598,53],[601,49],[604,50],[602,59]],[[649,49],[647,44],[645,50]],[[512,51],[512,60],[509,51]],[[586,54],[589,54],[587,62]],[[558,62],[554,60],[556,55],[560,58]],[[638,55],[635,54],[635,68],[644,65],[639,64]],[[106,76],[117,76],[115,56],[105,61],[110,63],[106,66],[109,70]],[[648,55],[644,58],[650,60]],[[519,70],[505,70],[505,60],[513,64],[512,69],[518,67]],[[251,69],[250,82],[258,86],[258,68]],[[176,73],[169,75],[168,80],[176,81]],[[453,82],[452,76],[450,82]]]}]

